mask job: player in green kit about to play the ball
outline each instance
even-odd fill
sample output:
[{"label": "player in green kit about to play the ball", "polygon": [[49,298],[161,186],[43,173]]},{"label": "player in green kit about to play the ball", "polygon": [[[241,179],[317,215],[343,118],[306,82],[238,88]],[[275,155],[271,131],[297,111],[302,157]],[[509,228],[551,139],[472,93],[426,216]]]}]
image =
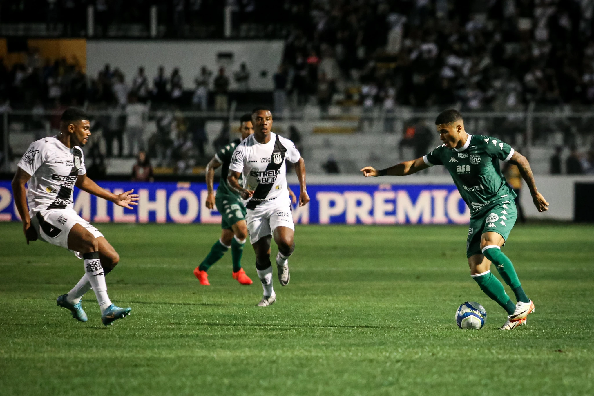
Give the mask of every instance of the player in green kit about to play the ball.
[{"label": "player in green kit about to play the ball", "polygon": [[[539,212],[548,210],[549,204],[536,189],[532,170],[522,154],[496,138],[467,134],[462,115],[457,110],[440,113],[435,125],[444,144],[431,153],[383,170],[367,166],[361,172],[365,177],[406,176],[429,166],[445,166],[470,208],[466,241],[470,275],[487,296],[507,311],[507,321],[500,329],[513,330],[526,323],[526,316],[534,311],[534,304],[522,289],[510,259],[501,252],[501,246],[516,222],[516,194],[505,182],[499,161],[517,165]],[[491,274],[491,262],[513,290],[517,304],[511,302],[503,284]]]}]

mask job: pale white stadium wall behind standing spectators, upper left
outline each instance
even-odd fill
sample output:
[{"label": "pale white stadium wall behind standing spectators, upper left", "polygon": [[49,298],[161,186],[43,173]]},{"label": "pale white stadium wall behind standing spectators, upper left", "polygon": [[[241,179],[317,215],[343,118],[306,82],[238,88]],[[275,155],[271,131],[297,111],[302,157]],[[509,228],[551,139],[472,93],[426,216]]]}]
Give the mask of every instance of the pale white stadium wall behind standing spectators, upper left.
[{"label": "pale white stadium wall behind standing spectators, upper left", "polygon": [[105,64],[119,68],[130,83],[138,66],[150,81],[159,66],[167,77],[179,68],[185,89],[194,88],[194,78],[204,65],[211,71],[211,84],[220,66],[229,77],[229,90],[236,90],[233,72],[245,62],[250,72],[249,89],[271,91],[273,75],[280,65],[283,40],[87,40],[87,74],[96,76]]}]

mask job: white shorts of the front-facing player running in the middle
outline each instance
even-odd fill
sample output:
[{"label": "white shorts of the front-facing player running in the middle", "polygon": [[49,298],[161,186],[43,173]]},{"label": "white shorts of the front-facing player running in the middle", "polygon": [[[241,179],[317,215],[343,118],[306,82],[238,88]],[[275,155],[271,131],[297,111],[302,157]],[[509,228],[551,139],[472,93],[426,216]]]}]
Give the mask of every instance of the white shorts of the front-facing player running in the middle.
[{"label": "white shorts of the front-facing player running in the middle", "polygon": [[272,235],[276,227],[287,227],[295,230],[291,202],[289,199],[274,199],[263,202],[254,210],[248,209],[245,220],[248,223],[249,242],[252,245],[268,235]]}]

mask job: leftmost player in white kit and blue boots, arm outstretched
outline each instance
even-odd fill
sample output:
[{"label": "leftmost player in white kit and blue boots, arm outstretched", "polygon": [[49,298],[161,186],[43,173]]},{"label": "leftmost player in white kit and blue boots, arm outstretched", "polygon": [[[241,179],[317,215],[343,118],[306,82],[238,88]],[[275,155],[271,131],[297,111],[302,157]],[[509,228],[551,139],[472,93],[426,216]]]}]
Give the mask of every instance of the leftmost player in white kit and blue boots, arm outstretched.
[{"label": "leftmost player in white kit and blue boots, arm outstretched", "polygon": [[131,310],[113,305],[105,284],[105,274],[118,264],[119,255],[99,230],[72,209],[72,188],[77,186],[128,209],[137,205],[138,195],[131,194],[133,190],[115,195],[87,178],[81,147],[91,136],[89,126],[89,117],[82,110],[65,110],[59,134],[31,143],[19,161],[12,191],[27,245],[39,237],[84,259],[84,276],[72,290],[58,297],[58,306],[69,309],[78,321],[86,322],[80,300],[92,288],[101,309],[101,321],[108,326]]}]

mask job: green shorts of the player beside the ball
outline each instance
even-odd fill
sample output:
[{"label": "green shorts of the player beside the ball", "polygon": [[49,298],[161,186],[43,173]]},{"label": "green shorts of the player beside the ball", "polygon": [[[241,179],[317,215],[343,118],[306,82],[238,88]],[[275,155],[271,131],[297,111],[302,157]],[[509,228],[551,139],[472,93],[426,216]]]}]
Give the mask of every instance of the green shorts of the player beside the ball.
[{"label": "green shorts of the player beside the ball", "polygon": [[489,210],[471,216],[468,239],[466,240],[466,257],[482,254],[481,236],[485,232],[496,232],[507,240],[507,236],[510,235],[511,229],[516,224],[516,217],[516,202],[513,199],[496,204]]}]

